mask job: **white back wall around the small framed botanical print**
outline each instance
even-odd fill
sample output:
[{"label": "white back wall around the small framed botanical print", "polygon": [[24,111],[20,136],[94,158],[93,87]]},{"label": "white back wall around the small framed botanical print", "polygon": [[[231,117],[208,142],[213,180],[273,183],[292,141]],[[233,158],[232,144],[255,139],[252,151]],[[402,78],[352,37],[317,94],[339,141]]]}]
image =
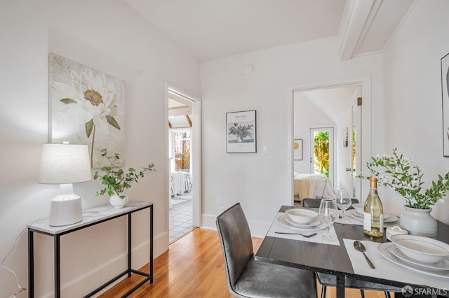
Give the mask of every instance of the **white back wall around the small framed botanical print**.
[{"label": "white back wall around the small framed botanical print", "polygon": [[[253,65],[246,76],[243,67]],[[261,50],[201,64],[203,225],[215,228],[220,208],[241,202],[252,233],[264,236],[281,205],[292,204],[292,90],[295,85],[370,76],[372,110],[382,111],[382,57],[340,62],[337,39]],[[257,111],[257,153],[227,154],[225,113]],[[382,148],[382,119],[373,118]],[[291,143],[291,142],[290,142]],[[268,154],[262,148],[268,146]],[[379,146],[377,148],[377,146]]]}]

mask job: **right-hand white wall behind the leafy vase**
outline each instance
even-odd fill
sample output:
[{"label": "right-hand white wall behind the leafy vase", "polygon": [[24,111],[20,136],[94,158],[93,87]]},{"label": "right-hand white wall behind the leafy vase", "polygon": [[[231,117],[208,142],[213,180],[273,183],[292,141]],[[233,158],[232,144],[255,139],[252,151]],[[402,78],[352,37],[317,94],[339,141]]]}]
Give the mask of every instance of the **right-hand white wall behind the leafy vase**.
[{"label": "right-hand white wall behind the leafy vase", "polygon": [[[385,148],[408,155],[429,187],[449,169],[443,157],[441,58],[449,52],[449,1],[418,1],[384,52]],[[382,152],[373,152],[382,153]],[[403,201],[384,191],[387,208],[403,210]],[[449,202],[432,214],[449,222]]]}]

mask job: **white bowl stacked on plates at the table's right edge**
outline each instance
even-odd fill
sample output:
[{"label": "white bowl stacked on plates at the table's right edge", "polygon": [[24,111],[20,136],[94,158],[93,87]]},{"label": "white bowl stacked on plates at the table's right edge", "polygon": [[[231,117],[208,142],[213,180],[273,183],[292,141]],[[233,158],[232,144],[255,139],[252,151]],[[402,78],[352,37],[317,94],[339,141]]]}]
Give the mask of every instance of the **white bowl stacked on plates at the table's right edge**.
[{"label": "white bowl stacked on plates at the table's right edge", "polygon": [[449,244],[424,236],[393,235],[391,241],[410,257],[423,264],[434,264],[449,256]]}]

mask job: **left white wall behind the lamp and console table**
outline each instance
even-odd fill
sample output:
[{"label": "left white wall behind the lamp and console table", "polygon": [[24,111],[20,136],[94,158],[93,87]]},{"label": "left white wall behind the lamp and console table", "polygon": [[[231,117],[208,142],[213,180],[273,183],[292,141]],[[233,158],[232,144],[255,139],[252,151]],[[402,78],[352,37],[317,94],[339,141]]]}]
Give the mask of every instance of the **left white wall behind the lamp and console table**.
[{"label": "left white wall behind the lamp and console table", "polygon": [[[197,97],[199,62],[120,0],[2,1],[0,36],[0,258],[27,223],[48,216],[50,199],[58,190],[36,183],[41,144],[48,142],[49,52],[126,81],[126,166],[139,169],[154,162],[157,169],[128,194],[154,201],[154,255],[166,250],[166,83]],[[74,185],[83,208],[107,204],[107,198],[94,196],[98,189],[98,181]],[[135,216],[133,246],[138,251],[133,261],[138,267],[148,260],[143,254],[149,230],[145,215]],[[125,257],[125,228],[124,220],[114,220],[63,237],[62,285],[71,286],[63,296],[80,297],[123,270],[118,266]],[[36,297],[46,297],[53,290],[52,241],[37,236],[36,246]],[[25,234],[6,264],[27,288]],[[1,269],[0,296],[16,291],[13,275]]]}]

